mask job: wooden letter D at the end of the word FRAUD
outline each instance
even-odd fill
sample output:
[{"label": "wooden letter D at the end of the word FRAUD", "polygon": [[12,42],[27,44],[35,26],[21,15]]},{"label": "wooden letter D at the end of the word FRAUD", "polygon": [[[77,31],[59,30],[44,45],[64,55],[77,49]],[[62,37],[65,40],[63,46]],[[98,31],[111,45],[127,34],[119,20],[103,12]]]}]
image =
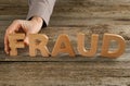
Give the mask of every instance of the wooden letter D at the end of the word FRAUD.
[{"label": "wooden letter D at the end of the word FRAUD", "polygon": [[[115,40],[118,44],[118,49],[115,51],[108,51],[110,41]],[[118,58],[125,52],[126,42],[125,39],[119,35],[114,34],[105,34],[103,38],[103,46],[102,46],[102,57],[108,57],[108,58]]]}]

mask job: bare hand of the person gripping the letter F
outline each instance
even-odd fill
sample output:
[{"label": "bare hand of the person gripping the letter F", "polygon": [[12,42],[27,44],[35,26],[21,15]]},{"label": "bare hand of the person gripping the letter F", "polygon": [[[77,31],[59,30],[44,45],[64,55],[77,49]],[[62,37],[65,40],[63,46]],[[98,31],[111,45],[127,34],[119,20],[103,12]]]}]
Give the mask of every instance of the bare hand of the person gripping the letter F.
[{"label": "bare hand of the person gripping the letter F", "polygon": [[4,51],[6,54],[10,53],[9,47],[9,35],[23,32],[26,37],[24,39],[25,45],[29,45],[28,35],[37,34],[41,29],[43,20],[38,16],[34,16],[30,21],[25,20],[15,20],[5,30],[4,35]]}]

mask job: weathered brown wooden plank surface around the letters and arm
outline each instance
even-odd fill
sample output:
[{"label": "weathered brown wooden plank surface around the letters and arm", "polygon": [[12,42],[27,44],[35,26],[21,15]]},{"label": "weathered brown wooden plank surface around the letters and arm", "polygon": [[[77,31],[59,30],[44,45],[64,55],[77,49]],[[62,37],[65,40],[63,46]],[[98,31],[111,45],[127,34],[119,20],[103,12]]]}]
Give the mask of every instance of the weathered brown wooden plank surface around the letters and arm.
[{"label": "weathered brown wooden plank surface around the letters and arm", "polygon": [[[21,3],[21,4],[20,4]],[[16,19],[26,19],[27,0],[0,0],[0,86],[130,86],[130,0],[57,0],[50,25],[40,33],[50,37],[49,49],[60,34],[68,34],[76,50],[77,33],[100,35],[93,59],[28,57],[28,48],[9,57],[3,51],[5,28]],[[118,59],[100,57],[104,33],[126,39],[125,54]],[[115,45],[112,46],[115,48]]]}]

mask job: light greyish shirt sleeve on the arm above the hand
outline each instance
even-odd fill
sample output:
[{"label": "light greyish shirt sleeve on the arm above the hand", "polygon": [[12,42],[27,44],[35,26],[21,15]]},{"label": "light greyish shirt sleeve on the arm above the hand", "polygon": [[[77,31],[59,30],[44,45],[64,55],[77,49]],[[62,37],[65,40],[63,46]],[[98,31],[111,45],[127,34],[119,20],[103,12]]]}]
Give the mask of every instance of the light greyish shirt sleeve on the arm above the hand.
[{"label": "light greyish shirt sleeve on the arm above the hand", "polygon": [[27,20],[32,16],[39,16],[42,17],[44,24],[48,25],[54,3],[55,0],[28,0],[29,11],[27,14]]}]

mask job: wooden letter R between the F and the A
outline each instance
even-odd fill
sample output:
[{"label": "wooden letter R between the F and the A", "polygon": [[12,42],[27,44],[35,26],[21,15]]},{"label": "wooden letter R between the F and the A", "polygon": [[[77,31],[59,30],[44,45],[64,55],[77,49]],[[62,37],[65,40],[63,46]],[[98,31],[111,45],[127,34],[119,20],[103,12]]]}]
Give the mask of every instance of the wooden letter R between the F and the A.
[{"label": "wooden letter R between the F and the A", "polygon": [[43,34],[29,35],[29,56],[36,57],[36,50],[40,50],[42,57],[49,57],[50,52],[47,48],[48,36]]}]

